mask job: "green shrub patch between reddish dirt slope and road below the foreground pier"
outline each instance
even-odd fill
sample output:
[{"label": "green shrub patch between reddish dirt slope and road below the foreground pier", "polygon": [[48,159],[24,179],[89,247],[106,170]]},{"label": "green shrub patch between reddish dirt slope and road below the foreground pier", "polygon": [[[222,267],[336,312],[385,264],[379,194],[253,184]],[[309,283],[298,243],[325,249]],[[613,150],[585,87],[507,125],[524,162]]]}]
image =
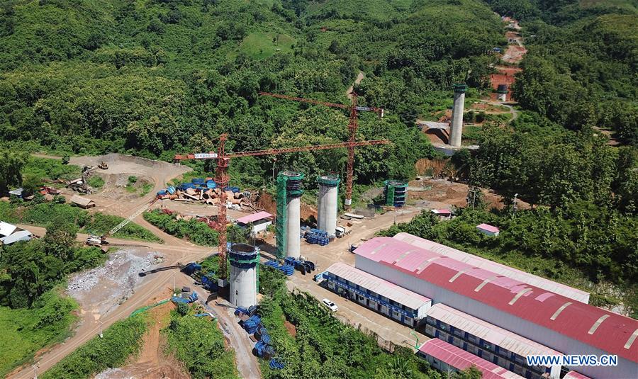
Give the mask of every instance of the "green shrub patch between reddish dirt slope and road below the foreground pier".
[{"label": "green shrub patch between reddish dirt slope and road below the foreground pier", "polygon": [[185,315],[171,312],[171,321],[162,332],[167,337],[167,353],[177,358],[191,378],[239,378],[235,367],[235,351],[225,346],[217,320],[193,317],[193,310]]}]

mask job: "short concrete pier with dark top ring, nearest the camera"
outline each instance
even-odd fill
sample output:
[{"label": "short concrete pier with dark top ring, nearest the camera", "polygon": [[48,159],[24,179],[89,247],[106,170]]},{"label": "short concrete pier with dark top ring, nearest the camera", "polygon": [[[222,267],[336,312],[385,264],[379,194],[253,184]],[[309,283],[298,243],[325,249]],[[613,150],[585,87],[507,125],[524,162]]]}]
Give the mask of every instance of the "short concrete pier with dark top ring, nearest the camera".
[{"label": "short concrete pier with dark top ring, nearest the camera", "polygon": [[230,303],[237,307],[257,304],[259,248],[249,244],[232,244],[230,261]]}]

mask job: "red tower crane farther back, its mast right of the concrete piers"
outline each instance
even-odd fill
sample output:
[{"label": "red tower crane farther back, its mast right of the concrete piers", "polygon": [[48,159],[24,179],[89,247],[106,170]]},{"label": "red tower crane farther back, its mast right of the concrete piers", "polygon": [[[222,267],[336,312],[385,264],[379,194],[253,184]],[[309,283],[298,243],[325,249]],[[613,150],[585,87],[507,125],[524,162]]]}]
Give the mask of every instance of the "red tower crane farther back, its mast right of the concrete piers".
[{"label": "red tower crane farther back, its mast right of the concrete piers", "polygon": [[357,106],[357,94],[352,91],[352,104],[347,106],[339,103],[328,103],[325,101],[313,100],[311,98],[293,97],[279,94],[271,94],[269,92],[259,92],[262,96],[271,96],[274,98],[283,98],[285,100],[300,101],[301,103],[318,104],[321,106],[329,106],[332,108],[347,109],[350,113],[348,120],[348,164],[346,171],[346,196],[345,196],[345,208],[349,210],[352,206],[352,177],[354,176],[354,145],[357,140],[357,128],[359,128],[359,111],[374,112],[379,115],[379,118],[384,117],[384,108],[375,108],[368,106]]}]

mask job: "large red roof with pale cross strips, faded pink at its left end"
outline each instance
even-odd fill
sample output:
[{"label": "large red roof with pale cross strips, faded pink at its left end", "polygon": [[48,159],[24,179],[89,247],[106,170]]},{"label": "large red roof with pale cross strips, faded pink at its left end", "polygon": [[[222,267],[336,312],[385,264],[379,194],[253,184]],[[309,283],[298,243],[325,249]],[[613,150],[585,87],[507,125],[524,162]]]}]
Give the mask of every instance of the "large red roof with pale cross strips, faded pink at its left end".
[{"label": "large red roof with pale cross strips, faded pink at its left end", "polygon": [[370,239],[354,253],[638,363],[638,320],[390,237]]}]

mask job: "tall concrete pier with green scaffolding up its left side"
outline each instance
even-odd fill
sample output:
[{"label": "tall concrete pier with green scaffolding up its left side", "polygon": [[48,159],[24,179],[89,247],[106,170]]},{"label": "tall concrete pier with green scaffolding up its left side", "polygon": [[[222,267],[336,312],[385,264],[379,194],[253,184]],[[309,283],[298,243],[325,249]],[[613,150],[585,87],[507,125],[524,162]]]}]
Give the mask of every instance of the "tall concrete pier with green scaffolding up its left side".
[{"label": "tall concrete pier with green scaffolding up its left side", "polygon": [[277,256],[301,256],[301,180],[303,174],[282,171],[277,176]]}]

